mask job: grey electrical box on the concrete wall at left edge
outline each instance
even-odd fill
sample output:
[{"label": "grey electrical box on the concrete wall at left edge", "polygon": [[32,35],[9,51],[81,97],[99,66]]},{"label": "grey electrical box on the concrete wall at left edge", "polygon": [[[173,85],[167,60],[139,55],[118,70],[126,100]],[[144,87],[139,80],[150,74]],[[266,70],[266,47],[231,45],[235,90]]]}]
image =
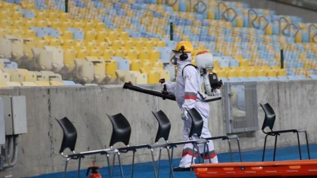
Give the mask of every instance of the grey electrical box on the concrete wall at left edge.
[{"label": "grey electrical box on the concrete wall at left edge", "polygon": [[5,134],[26,134],[25,96],[0,96],[3,99]]}]

